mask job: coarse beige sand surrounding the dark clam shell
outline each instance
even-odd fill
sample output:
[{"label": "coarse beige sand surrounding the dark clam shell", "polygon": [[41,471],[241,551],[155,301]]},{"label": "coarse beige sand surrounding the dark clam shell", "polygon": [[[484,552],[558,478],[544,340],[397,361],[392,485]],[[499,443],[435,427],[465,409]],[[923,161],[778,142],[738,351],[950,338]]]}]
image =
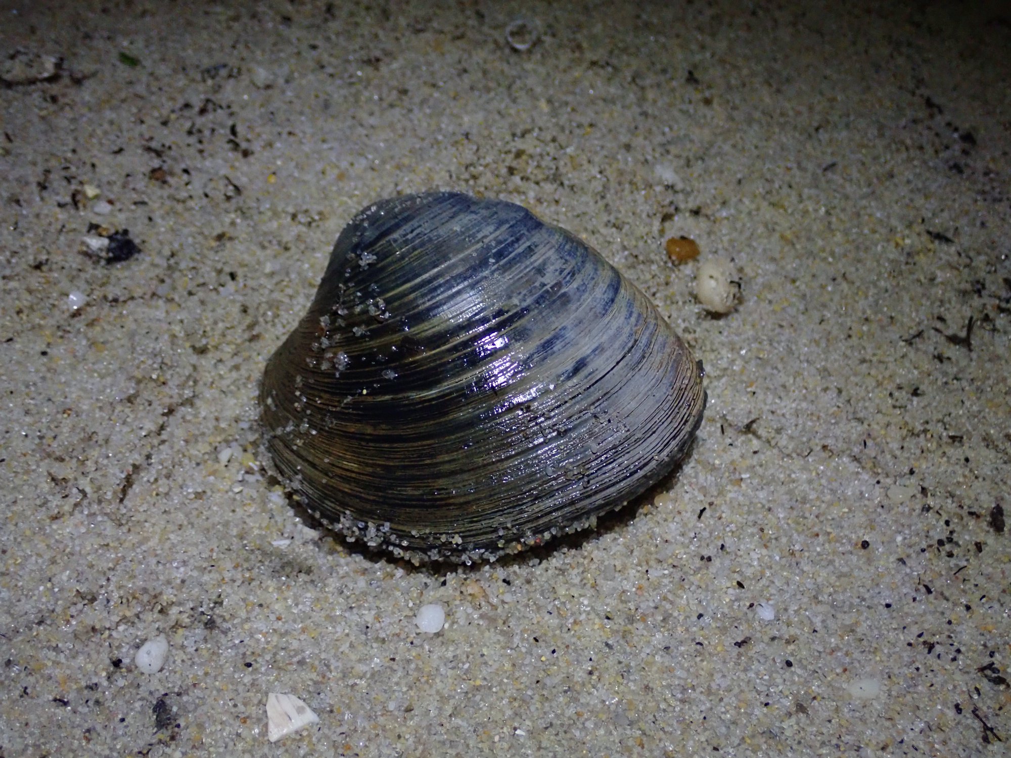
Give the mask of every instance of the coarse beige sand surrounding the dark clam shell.
[{"label": "coarse beige sand surrounding the dark clam shell", "polygon": [[[830,5],[5,3],[0,754],[1003,754],[1011,22]],[[261,456],[337,234],[428,189],[577,233],[707,371],[661,487],[480,566]]]}]

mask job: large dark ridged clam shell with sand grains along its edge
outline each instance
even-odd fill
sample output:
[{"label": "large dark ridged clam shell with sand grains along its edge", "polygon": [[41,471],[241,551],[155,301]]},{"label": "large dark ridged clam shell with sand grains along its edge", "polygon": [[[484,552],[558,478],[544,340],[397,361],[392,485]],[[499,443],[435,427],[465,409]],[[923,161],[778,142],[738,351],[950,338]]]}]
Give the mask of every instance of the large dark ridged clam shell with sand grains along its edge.
[{"label": "large dark ridged clam shell with sand grains along its edge", "polygon": [[519,205],[436,192],[341,232],[260,401],[278,473],[329,527],[469,563],[642,493],[706,394],[684,343],[588,245]]}]

